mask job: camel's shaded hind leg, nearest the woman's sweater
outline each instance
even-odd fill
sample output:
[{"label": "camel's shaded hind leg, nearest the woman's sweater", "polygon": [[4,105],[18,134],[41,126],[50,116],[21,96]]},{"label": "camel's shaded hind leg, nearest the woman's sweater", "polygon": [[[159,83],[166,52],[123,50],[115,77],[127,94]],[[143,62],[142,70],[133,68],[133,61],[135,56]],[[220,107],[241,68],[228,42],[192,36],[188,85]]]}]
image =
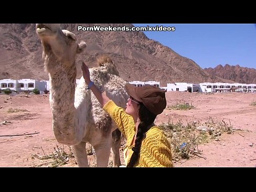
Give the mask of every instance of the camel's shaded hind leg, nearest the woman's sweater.
[{"label": "camel's shaded hind leg, nearest the woman's sweater", "polygon": [[121,144],[121,132],[116,129],[112,132],[112,143],[111,143],[111,155],[113,159],[113,167],[119,167],[121,165],[120,161],[120,148]]}]

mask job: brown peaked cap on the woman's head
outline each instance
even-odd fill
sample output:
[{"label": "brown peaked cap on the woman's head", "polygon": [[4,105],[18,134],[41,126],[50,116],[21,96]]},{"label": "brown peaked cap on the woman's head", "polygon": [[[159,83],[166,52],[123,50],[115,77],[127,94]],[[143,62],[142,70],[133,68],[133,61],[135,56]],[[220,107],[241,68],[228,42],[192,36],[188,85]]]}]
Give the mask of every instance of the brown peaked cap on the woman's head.
[{"label": "brown peaked cap on the woman's head", "polygon": [[161,114],[166,108],[165,92],[154,86],[136,87],[133,84],[125,84],[126,92],[137,101],[142,102],[151,113]]}]

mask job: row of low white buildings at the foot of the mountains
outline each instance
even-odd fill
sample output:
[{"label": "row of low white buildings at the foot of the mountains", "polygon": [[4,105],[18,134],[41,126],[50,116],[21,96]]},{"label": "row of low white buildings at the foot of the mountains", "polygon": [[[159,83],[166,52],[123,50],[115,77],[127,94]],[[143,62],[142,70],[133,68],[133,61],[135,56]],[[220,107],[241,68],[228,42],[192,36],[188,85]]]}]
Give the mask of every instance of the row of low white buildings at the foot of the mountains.
[{"label": "row of low white buildings at the foot of the mountains", "polygon": [[[77,83],[79,79],[77,79]],[[167,83],[167,87],[160,87],[158,81],[130,81],[129,83],[134,84],[136,87],[142,87],[147,84],[155,86],[166,91],[188,91],[188,92],[256,92],[256,84],[245,84],[245,83],[186,83],[176,82]],[[2,79],[0,80],[0,89],[10,89],[17,93],[28,91],[33,92],[34,89],[38,89],[41,94],[44,94],[44,90],[49,91],[49,81],[38,81],[35,79]]]}]

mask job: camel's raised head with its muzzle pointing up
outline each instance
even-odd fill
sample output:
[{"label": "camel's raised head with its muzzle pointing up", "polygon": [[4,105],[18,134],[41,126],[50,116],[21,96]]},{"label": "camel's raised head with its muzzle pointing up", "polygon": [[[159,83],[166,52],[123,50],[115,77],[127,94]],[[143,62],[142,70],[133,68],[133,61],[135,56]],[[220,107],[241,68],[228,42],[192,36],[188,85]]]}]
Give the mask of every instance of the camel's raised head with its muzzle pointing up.
[{"label": "camel's raised head with its muzzle pointing up", "polygon": [[76,35],[61,30],[59,24],[36,24],[36,33],[42,43],[42,58],[46,65],[51,59],[75,65],[76,54],[86,48],[86,42],[78,43]]}]

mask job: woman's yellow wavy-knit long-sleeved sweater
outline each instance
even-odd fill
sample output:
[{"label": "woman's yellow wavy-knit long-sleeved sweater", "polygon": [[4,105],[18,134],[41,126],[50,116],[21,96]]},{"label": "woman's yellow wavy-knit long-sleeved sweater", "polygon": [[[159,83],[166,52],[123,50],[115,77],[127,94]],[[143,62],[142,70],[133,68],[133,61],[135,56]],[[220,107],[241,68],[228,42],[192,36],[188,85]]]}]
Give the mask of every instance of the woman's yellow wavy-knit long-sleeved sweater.
[{"label": "woman's yellow wavy-knit long-sleeved sweater", "polygon": [[[125,113],[124,109],[117,106],[112,100],[103,106],[111,118],[118,125],[119,130],[126,138],[124,150],[125,165],[129,163],[133,154],[133,138],[135,136],[135,124],[131,115]],[[128,156],[126,157],[126,152]],[[172,151],[170,144],[163,131],[157,126],[153,126],[146,132],[146,137],[142,141],[140,159],[136,167],[173,167]]]}]

